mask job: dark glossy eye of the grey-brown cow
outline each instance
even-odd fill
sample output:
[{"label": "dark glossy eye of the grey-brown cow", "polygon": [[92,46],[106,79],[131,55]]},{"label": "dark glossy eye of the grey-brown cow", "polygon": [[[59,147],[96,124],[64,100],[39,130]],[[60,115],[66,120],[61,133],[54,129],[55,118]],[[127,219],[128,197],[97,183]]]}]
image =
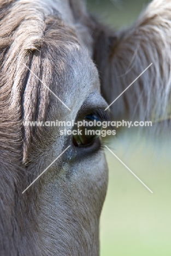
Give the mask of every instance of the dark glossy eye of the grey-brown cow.
[{"label": "dark glossy eye of the grey-brown cow", "polygon": [[79,128],[74,127],[74,130],[78,131],[76,135],[73,135],[73,144],[75,147],[90,146],[101,135],[102,125],[97,115],[86,115],[82,123],[83,125]]}]

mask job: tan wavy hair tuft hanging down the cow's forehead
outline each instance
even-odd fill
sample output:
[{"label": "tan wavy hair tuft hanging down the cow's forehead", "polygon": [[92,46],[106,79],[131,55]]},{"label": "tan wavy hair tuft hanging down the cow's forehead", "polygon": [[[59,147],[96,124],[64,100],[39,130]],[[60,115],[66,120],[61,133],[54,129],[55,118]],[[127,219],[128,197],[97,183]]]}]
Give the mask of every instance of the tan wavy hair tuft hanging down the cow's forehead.
[{"label": "tan wavy hair tuft hanging down the cow's forehead", "polygon": [[[6,98],[0,96],[0,109],[13,108],[14,116],[7,114],[7,119],[16,122],[45,120],[50,92],[23,64],[53,90],[67,66],[70,51],[79,49],[78,39],[57,11],[45,13],[39,5],[33,8],[29,1],[8,3],[0,4],[1,95],[8,95]],[[22,128],[25,160],[34,130],[30,126]]]}]

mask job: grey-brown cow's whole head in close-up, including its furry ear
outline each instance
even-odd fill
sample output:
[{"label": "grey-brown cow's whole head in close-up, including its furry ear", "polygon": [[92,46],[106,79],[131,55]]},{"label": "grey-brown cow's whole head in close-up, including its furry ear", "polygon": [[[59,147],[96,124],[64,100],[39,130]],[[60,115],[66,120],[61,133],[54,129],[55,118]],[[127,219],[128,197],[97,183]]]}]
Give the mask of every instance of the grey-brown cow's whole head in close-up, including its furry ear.
[{"label": "grey-brown cow's whole head in close-up, including its furry ear", "polygon": [[152,1],[119,32],[79,0],[0,1],[2,256],[99,255],[108,184],[101,138],[23,122],[160,120],[170,98],[170,46],[169,0]]}]

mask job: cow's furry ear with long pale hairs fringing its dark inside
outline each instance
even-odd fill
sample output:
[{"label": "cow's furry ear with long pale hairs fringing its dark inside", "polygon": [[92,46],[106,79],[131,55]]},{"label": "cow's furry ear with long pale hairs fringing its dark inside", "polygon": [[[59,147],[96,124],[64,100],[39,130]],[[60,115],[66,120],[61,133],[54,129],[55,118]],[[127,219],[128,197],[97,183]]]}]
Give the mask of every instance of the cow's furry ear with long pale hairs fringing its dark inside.
[{"label": "cow's furry ear with long pale hairs fringing its dark inside", "polygon": [[169,119],[171,97],[171,2],[154,0],[128,30],[97,23],[94,60],[102,94],[110,104],[151,63],[110,109],[115,118]]}]

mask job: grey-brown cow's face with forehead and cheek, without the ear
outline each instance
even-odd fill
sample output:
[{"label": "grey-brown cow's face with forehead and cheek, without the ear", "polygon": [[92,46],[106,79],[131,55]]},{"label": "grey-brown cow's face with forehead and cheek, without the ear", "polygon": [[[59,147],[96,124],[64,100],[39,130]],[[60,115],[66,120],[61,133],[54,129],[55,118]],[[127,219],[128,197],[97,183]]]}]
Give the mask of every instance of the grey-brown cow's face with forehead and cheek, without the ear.
[{"label": "grey-brown cow's face with forehead and cheek, without the ear", "polygon": [[11,1],[1,10],[1,255],[95,256],[107,190],[100,139],[80,145],[61,127],[23,125],[107,119],[88,43],[48,4]]}]

